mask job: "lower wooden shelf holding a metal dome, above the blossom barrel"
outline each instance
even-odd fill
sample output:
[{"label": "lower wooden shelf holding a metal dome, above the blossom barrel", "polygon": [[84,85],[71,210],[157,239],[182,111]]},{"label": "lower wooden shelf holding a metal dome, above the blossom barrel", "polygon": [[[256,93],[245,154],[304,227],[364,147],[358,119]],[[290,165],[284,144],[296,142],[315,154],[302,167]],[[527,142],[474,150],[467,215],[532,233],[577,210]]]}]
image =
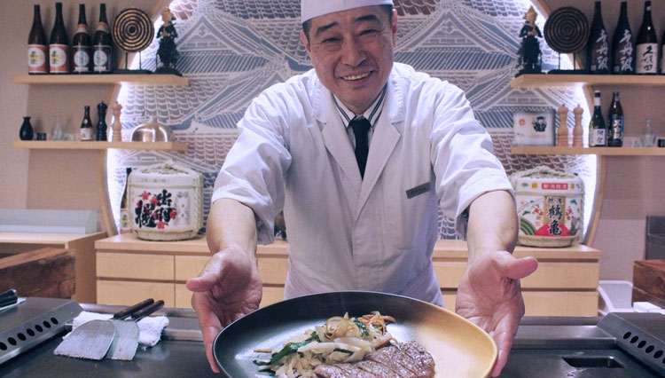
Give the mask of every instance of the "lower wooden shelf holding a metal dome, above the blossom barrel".
[{"label": "lower wooden shelf holding a metal dome, above the blossom barrel", "polygon": [[15,140],[14,148],[35,150],[106,150],[117,148],[124,150],[160,150],[160,151],[187,151],[187,144],[181,142],[82,142],[82,141],[53,141],[53,140]]}]

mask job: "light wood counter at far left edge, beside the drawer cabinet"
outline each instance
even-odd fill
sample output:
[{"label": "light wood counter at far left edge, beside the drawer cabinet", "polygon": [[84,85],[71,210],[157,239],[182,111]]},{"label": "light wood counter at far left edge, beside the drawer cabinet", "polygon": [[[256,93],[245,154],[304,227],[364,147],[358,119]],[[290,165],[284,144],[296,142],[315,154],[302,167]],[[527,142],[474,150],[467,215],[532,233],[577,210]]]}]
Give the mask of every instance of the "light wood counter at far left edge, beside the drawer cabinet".
[{"label": "light wood counter at far left edge, beside the drawer cabinet", "polygon": [[15,255],[45,247],[65,248],[73,252],[76,259],[74,299],[84,303],[96,303],[94,242],[104,237],[106,232],[87,234],[0,232],[0,254]]}]

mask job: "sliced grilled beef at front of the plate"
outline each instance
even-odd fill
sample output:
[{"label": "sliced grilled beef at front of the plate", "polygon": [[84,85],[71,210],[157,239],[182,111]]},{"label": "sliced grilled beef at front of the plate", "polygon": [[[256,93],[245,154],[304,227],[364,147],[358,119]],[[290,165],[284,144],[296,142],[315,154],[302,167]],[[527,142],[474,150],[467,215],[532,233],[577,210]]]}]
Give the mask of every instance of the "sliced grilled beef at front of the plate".
[{"label": "sliced grilled beef at front of the plate", "polygon": [[317,366],[314,373],[319,378],[429,378],[434,376],[434,358],[419,343],[392,343],[363,361]]}]

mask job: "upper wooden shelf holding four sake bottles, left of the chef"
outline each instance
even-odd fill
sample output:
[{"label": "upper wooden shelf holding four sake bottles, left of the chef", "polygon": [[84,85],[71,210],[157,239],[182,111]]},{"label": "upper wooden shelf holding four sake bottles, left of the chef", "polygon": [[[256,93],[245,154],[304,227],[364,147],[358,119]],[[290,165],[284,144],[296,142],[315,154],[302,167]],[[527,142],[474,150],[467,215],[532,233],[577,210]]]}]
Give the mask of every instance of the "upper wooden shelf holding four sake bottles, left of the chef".
[{"label": "upper wooden shelf holding four sake bottles, left of the chef", "polygon": [[188,86],[190,79],[166,74],[89,74],[89,75],[17,75],[18,84],[115,84],[144,83],[149,85]]}]

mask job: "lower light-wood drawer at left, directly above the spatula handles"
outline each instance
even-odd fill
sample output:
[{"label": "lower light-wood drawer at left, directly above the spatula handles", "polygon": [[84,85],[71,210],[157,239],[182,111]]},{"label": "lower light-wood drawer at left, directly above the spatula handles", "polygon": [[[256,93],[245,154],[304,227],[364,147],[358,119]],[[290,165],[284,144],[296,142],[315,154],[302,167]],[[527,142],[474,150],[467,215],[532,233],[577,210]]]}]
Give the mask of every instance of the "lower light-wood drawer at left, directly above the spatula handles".
[{"label": "lower light-wood drawer at left, directly above the spatula handles", "polygon": [[97,281],[98,303],[129,306],[146,298],[164,300],[165,307],[176,305],[175,285],[163,282]]}]

